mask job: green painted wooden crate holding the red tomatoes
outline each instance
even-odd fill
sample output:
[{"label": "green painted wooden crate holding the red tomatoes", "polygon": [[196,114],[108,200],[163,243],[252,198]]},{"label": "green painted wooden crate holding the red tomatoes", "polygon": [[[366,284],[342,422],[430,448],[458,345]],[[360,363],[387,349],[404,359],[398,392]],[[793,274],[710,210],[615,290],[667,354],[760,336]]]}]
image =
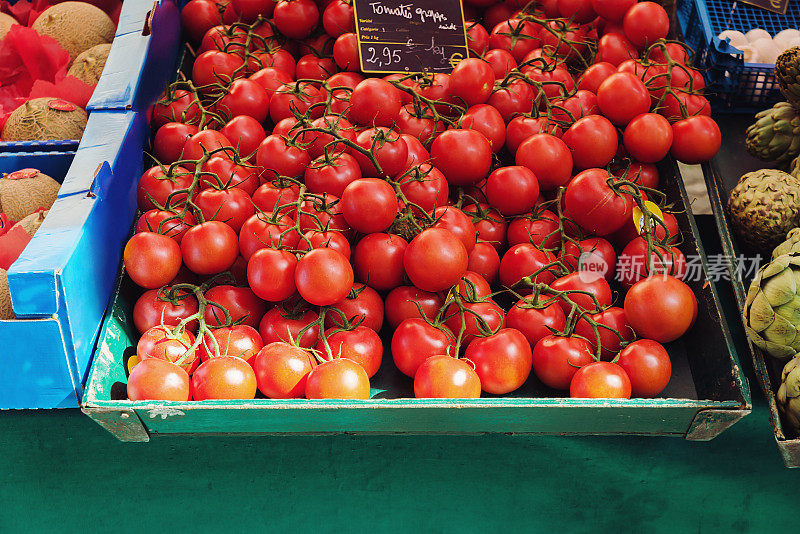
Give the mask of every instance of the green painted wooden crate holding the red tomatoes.
[{"label": "green painted wooden crate holding the red tomatoes", "polygon": [[[662,166],[668,197],[685,213],[678,217],[686,236],[684,254],[705,254],[674,163]],[[720,314],[713,284],[693,282],[698,318],[681,340],[670,343],[673,378],[665,398],[589,400],[563,398],[532,374],[505,397],[473,400],[414,399],[411,379],[384,354],[364,401],[270,400],[131,402],[125,395],[125,358],[134,352],[131,309],[137,296],[122,276],[106,315],[82,408],[121,440],[148,441],[159,434],[321,433],[522,433],[638,434],[709,440],[750,412],[730,332]]]}]

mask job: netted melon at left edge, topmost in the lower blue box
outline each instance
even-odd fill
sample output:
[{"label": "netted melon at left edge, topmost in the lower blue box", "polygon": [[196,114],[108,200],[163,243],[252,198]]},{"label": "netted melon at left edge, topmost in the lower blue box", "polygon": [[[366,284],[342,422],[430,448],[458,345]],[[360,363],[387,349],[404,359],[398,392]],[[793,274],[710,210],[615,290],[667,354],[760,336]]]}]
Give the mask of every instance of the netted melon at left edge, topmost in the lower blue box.
[{"label": "netted melon at left edge, topmost in the lower blue box", "polygon": [[0,212],[12,221],[21,221],[39,208],[49,210],[59,187],[58,182],[36,169],[4,174],[0,177]]}]

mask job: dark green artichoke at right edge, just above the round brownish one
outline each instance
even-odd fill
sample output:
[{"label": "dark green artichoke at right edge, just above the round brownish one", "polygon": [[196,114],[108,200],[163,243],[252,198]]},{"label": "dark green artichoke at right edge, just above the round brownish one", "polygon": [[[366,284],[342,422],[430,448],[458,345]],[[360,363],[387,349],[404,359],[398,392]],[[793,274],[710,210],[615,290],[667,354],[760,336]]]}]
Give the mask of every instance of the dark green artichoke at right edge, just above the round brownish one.
[{"label": "dark green artichoke at right edge, just above the round brownish one", "polygon": [[754,157],[785,165],[800,155],[800,116],[788,102],[756,114],[745,147]]}]

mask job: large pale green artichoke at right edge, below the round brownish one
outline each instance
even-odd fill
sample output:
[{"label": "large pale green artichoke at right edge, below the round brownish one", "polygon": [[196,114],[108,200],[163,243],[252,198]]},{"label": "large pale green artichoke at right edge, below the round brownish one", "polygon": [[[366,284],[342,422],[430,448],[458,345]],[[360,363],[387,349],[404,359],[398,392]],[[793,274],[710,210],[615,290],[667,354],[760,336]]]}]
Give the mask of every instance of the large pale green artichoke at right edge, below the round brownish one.
[{"label": "large pale green artichoke at right edge, below the round brownish one", "polygon": [[800,352],[800,253],[759,269],[747,290],[744,324],[755,346],[779,359]]}]

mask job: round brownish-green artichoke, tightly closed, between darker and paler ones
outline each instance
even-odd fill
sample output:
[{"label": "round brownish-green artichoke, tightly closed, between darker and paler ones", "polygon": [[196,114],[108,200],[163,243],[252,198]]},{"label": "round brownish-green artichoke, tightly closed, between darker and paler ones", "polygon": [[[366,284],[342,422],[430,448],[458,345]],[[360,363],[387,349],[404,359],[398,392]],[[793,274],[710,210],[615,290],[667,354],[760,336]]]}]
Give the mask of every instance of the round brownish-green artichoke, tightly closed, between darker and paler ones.
[{"label": "round brownish-green artichoke, tightly closed, between darker and paler ones", "polygon": [[731,191],[728,213],[745,243],[772,251],[800,226],[800,178],[775,169],[749,172]]}]

